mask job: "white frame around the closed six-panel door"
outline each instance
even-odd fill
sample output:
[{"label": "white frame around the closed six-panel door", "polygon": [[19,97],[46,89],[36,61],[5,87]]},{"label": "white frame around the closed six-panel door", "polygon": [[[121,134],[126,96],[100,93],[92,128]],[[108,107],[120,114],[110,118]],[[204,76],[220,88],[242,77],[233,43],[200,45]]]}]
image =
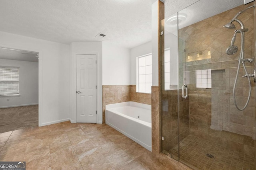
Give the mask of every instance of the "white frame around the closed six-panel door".
[{"label": "white frame around the closed six-panel door", "polygon": [[[102,79],[102,76],[100,76],[100,61],[99,61],[99,55],[98,52],[91,52],[91,53],[72,53],[71,58],[71,64],[72,64],[72,73],[71,73],[71,114],[70,115],[70,122],[71,123],[77,123],[76,119],[76,55],[96,55],[96,84],[97,84],[97,123],[102,124],[102,84],[100,84],[100,78]],[[73,112],[73,111],[74,112]],[[72,119],[73,118],[73,119]]]}]

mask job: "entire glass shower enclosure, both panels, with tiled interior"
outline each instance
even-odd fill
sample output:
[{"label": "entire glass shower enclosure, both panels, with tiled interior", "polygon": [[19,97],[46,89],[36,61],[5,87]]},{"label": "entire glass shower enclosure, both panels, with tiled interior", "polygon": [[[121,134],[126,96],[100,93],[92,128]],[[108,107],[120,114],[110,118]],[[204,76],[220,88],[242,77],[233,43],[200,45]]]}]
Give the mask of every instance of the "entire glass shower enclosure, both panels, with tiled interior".
[{"label": "entire glass shower enclosure, both panels, with tiled interior", "polygon": [[[196,170],[254,170],[254,2],[219,14],[210,4],[202,13],[204,3],[209,0],[163,21],[162,152]],[[227,23],[236,29],[223,27]]]}]

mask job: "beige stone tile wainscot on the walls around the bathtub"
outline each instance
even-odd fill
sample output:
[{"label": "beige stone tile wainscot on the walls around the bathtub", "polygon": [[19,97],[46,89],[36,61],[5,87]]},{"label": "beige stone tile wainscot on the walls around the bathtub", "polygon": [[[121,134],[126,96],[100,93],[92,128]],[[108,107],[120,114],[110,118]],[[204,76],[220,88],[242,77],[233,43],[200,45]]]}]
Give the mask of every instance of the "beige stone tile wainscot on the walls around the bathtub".
[{"label": "beige stone tile wainscot on the walls around the bathtub", "polygon": [[105,106],[121,102],[138,102],[151,105],[151,94],[136,93],[136,85],[102,86],[102,120],[105,123]]}]

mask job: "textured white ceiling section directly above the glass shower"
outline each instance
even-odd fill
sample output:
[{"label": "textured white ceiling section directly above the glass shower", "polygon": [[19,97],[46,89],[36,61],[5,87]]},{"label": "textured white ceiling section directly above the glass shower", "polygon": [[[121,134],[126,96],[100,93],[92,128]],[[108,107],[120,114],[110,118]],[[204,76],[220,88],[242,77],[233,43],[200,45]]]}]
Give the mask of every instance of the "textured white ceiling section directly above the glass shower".
[{"label": "textured white ceiling section directly above the glass shower", "polygon": [[[180,2],[180,3],[178,3]],[[202,21],[244,4],[244,0],[165,0],[165,29],[176,35],[176,25],[168,26],[167,20],[173,16],[185,16],[186,20],[179,23],[179,29]],[[177,22],[177,21],[176,21]]]}]

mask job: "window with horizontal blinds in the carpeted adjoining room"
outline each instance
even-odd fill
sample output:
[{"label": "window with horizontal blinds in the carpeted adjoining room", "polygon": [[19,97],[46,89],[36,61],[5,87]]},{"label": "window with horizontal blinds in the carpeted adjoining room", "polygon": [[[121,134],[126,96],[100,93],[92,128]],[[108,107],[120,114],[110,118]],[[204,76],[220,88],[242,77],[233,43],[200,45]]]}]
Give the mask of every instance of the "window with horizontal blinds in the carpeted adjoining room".
[{"label": "window with horizontal blinds in the carpeted adjoining room", "polygon": [[0,66],[0,96],[19,94],[19,68]]}]

